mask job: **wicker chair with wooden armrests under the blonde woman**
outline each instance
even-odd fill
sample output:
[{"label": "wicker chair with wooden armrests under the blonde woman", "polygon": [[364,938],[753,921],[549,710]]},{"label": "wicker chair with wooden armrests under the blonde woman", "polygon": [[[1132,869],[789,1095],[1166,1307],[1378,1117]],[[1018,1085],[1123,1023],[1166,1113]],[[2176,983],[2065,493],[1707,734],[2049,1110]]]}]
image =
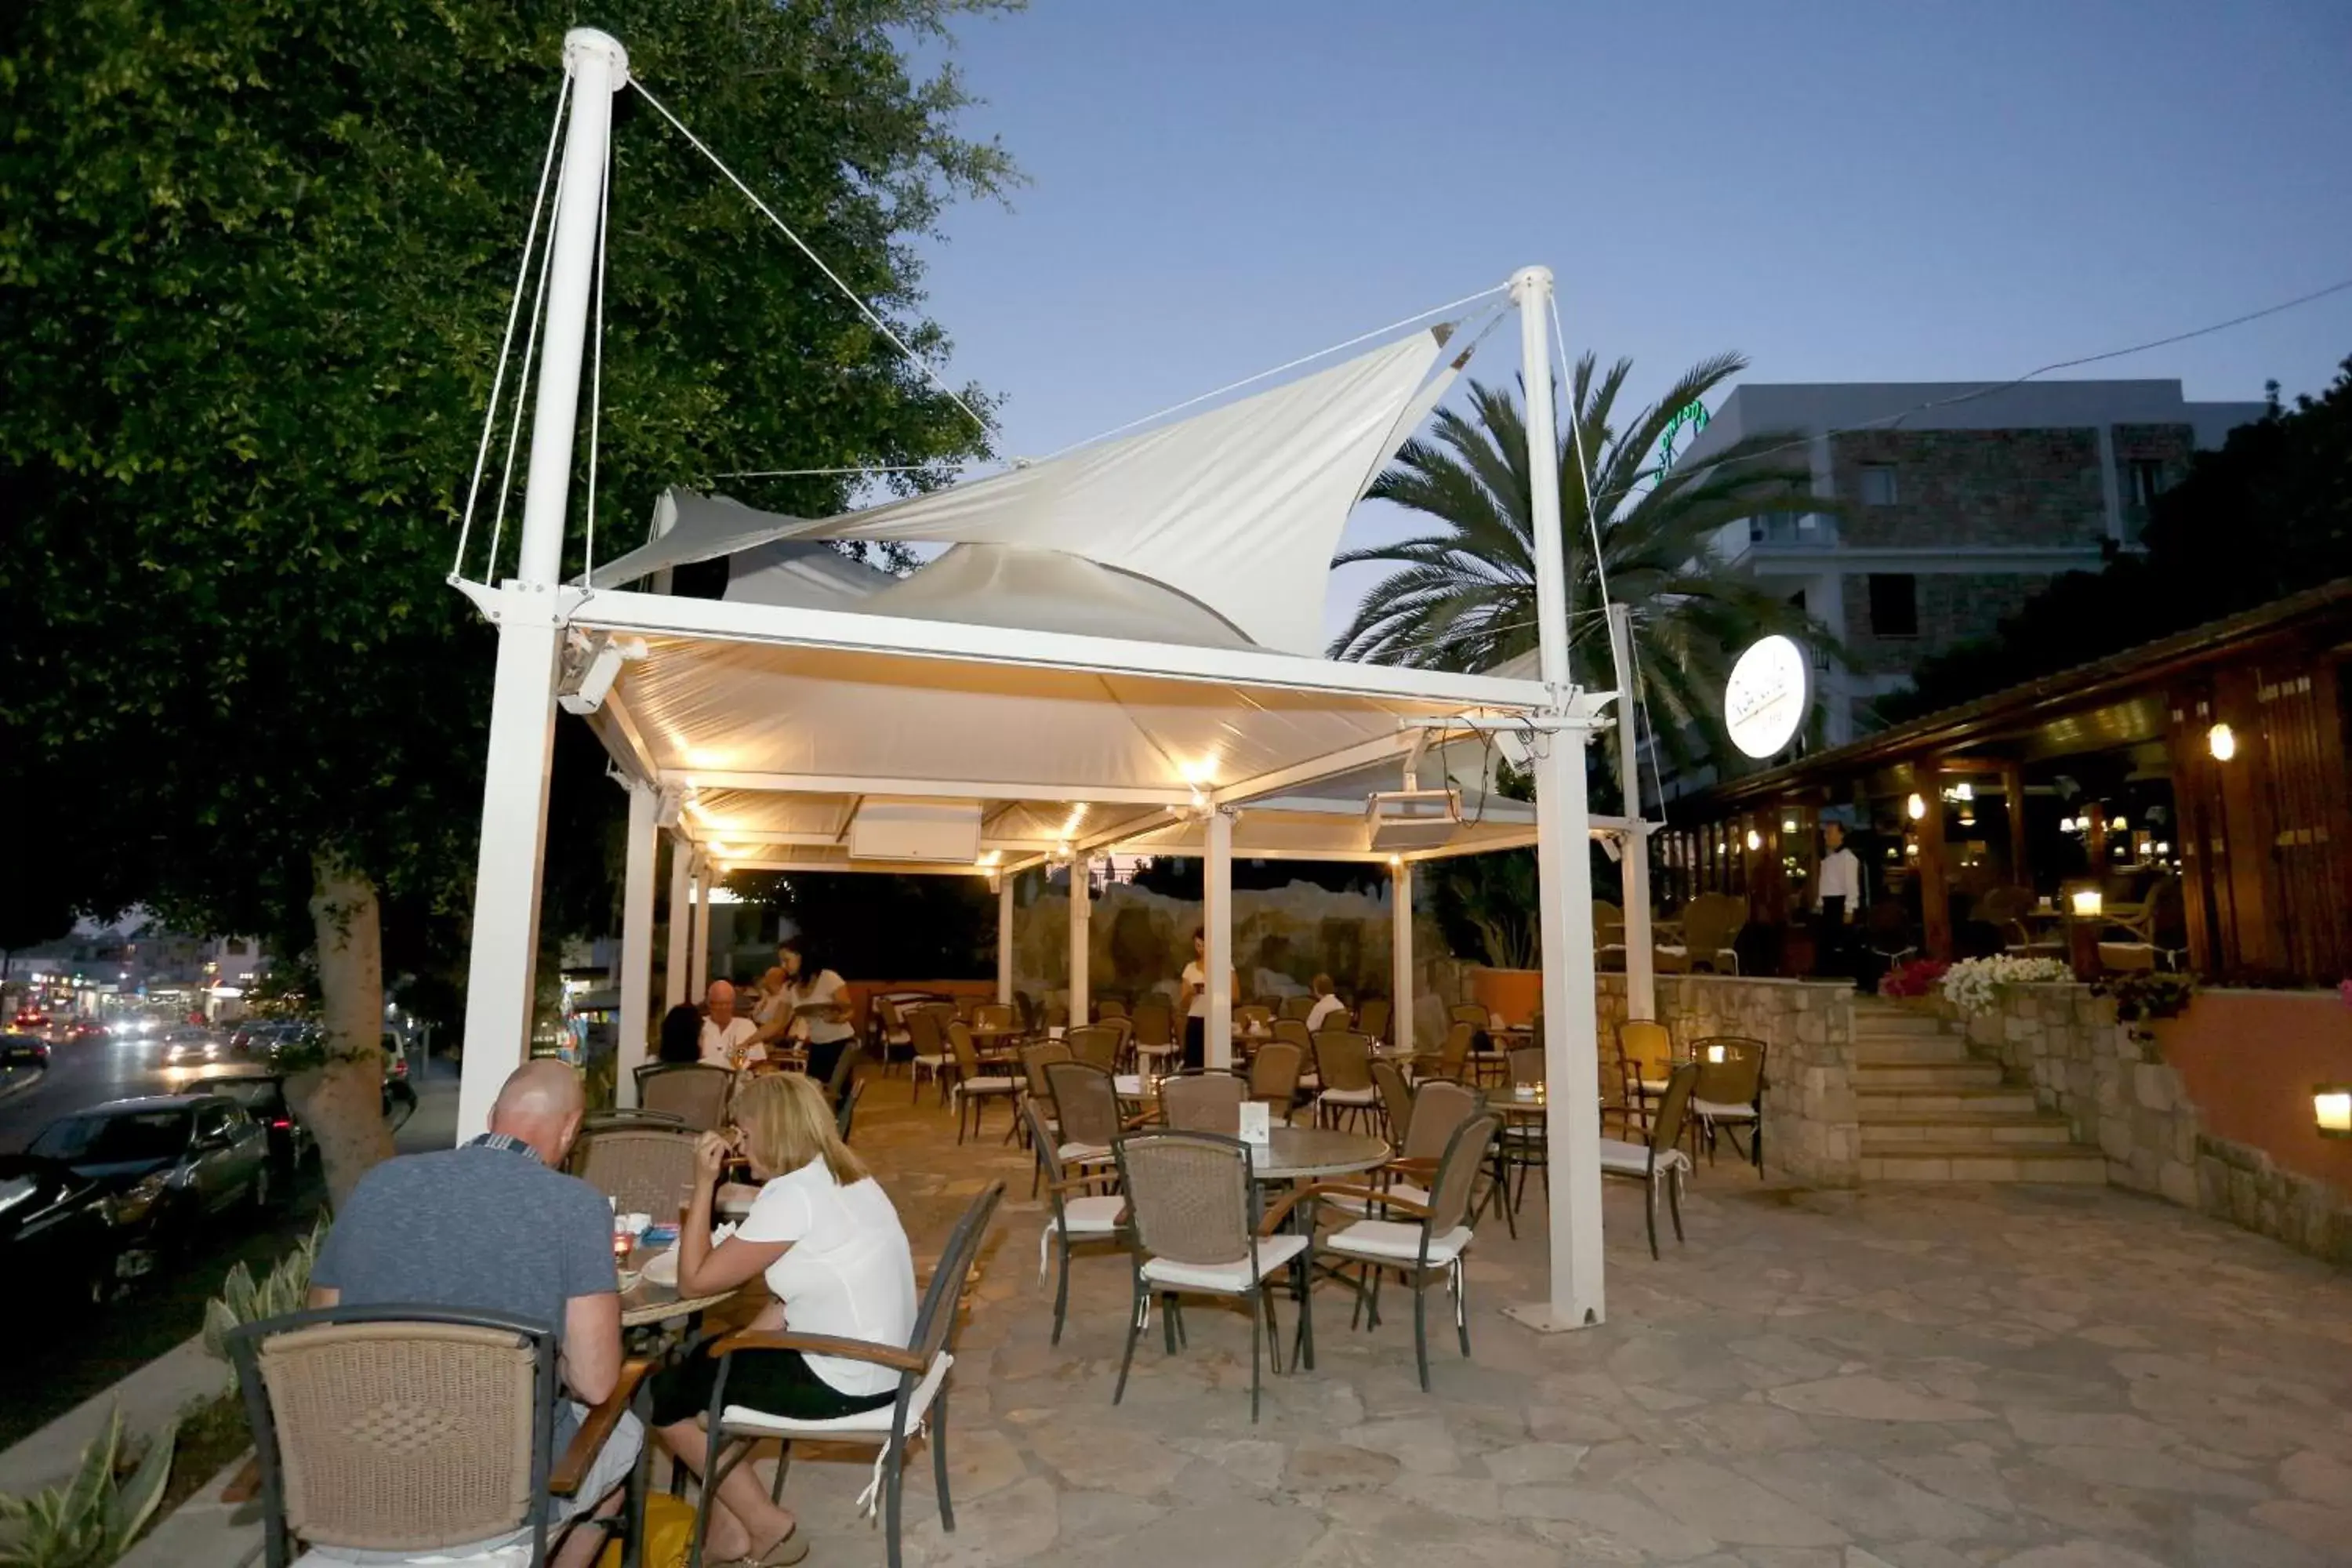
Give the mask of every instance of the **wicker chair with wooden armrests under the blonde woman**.
[{"label": "wicker chair with wooden armrests under the blonde woman", "polygon": [[[915,1314],[915,1333],[906,1345],[840,1340],[833,1335],[793,1333],[786,1328],[781,1333],[741,1331],[708,1347],[706,1354],[717,1359],[720,1371],[710,1382],[710,1410],[703,1418],[710,1446],[703,1453],[703,1488],[701,1502],[694,1509],[694,1544],[687,1552],[689,1563],[706,1561],[703,1537],[710,1530],[710,1500],[717,1495],[720,1481],[729,1469],[748,1460],[764,1439],[776,1439],[779,1443],[774,1481],[776,1497],[783,1495],[783,1476],[793,1462],[793,1443],[875,1443],[880,1448],[875,1455],[875,1479],[873,1486],[866,1488],[866,1495],[858,1497],[858,1505],[868,1516],[880,1505],[889,1568],[898,1568],[898,1514],[901,1483],[906,1479],[906,1446],[913,1436],[929,1427],[931,1483],[938,1490],[938,1528],[950,1533],[955,1530],[955,1502],[948,1495],[948,1373],[955,1366],[955,1335],[964,1316],[960,1312],[964,1288],[971,1284],[971,1267],[981,1255],[981,1241],[988,1237],[988,1222],[1002,1197],[1004,1182],[990,1182],[988,1190],[971,1199],[971,1206],[964,1208],[955,1229],[948,1232],[948,1246],[941,1251],[938,1267],[931,1272],[931,1284],[922,1293],[922,1307]],[[840,1356],[844,1361],[887,1366],[898,1373],[898,1396],[875,1410],[833,1415],[823,1420],[793,1420],[788,1415],[769,1415],[767,1410],[727,1403],[729,1363],[746,1349],[797,1349],[814,1356]],[[729,1443],[734,1443],[731,1453]]]}]

